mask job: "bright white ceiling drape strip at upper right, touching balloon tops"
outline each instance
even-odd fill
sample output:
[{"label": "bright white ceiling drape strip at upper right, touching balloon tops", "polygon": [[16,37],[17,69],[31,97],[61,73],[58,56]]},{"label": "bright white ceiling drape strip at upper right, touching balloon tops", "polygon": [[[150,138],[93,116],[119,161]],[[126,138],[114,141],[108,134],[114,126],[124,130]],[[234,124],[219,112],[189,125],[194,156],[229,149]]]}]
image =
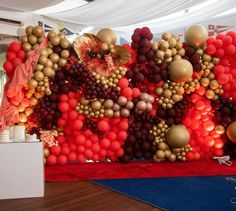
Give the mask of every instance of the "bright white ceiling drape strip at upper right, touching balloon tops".
[{"label": "bright white ceiling drape strip at upper right, touching balloon tops", "polygon": [[[130,34],[135,28],[147,26],[150,27],[153,33],[161,33],[164,31],[171,31],[173,29],[183,28],[188,25],[199,23],[205,20],[213,19],[215,15],[229,10],[236,6],[235,0],[218,0],[209,1],[209,4],[202,5],[202,8],[198,8],[195,11],[190,11],[185,13],[172,14],[169,17],[162,17],[159,19],[154,19],[148,22],[141,22],[138,24],[113,28],[115,31],[125,32]],[[230,24],[230,23],[229,23]]]}]

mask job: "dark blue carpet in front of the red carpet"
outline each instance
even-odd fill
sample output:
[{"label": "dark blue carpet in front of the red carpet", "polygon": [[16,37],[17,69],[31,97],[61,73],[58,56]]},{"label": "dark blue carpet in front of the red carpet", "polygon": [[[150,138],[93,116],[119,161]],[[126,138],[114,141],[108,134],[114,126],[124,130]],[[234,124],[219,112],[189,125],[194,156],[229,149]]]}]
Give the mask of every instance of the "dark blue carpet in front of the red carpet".
[{"label": "dark blue carpet in front of the red carpet", "polygon": [[236,176],[91,180],[170,211],[235,211]]}]

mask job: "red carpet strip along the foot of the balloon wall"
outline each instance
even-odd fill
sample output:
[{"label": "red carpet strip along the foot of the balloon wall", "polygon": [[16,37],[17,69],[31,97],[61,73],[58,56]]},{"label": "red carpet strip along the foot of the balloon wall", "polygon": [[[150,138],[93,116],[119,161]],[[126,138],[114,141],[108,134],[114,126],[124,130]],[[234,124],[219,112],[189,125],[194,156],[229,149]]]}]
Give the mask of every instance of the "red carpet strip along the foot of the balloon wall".
[{"label": "red carpet strip along the foot of the balloon wall", "polygon": [[220,165],[215,160],[194,162],[137,161],[121,163],[86,163],[65,166],[46,166],[46,181],[76,181],[115,178],[152,178],[179,176],[216,176],[236,174],[232,166]]}]

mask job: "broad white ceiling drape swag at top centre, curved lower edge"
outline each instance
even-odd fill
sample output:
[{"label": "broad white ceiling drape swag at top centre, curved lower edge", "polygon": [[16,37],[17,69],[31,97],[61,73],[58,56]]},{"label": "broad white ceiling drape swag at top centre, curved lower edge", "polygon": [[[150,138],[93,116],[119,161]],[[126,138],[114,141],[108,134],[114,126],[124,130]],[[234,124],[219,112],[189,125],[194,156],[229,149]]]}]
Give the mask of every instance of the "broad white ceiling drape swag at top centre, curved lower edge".
[{"label": "broad white ceiling drape swag at top centre, curved lower edge", "polygon": [[[96,0],[49,17],[94,27],[119,27],[150,21],[206,0]],[[224,1],[223,1],[224,2]]]}]

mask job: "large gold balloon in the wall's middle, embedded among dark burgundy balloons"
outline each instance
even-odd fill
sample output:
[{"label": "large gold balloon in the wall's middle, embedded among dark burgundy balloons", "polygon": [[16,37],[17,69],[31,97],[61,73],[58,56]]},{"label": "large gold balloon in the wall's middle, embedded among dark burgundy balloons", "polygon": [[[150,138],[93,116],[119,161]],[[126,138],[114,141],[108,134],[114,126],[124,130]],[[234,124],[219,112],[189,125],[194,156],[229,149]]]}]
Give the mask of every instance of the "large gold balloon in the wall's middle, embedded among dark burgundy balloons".
[{"label": "large gold balloon in the wall's middle, embedded among dark burgundy balloons", "polygon": [[192,64],[185,59],[174,60],[169,66],[171,80],[181,83],[191,79],[193,74]]}]

